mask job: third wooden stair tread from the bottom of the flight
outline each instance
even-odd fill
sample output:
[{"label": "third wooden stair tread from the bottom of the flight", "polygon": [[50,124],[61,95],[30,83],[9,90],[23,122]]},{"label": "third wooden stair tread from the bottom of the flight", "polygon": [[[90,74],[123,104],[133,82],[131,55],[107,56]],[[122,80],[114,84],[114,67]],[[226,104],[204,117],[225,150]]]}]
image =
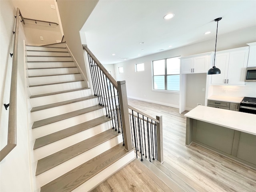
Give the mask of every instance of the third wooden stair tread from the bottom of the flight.
[{"label": "third wooden stair tread from the bottom of the flight", "polygon": [[111,118],[108,118],[106,116],[101,116],[92,120],[89,120],[87,122],[60,130],[58,132],[54,132],[52,134],[37,138],[34,144],[34,149],[38,149],[42,146],[46,146],[50,143],[56,142],[58,140],[61,140],[63,138],[66,138],[68,136],[74,135],[76,133],[82,132],[84,130],[90,129],[92,127],[95,127],[97,125],[100,125],[102,123],[110,121]]}]

